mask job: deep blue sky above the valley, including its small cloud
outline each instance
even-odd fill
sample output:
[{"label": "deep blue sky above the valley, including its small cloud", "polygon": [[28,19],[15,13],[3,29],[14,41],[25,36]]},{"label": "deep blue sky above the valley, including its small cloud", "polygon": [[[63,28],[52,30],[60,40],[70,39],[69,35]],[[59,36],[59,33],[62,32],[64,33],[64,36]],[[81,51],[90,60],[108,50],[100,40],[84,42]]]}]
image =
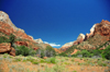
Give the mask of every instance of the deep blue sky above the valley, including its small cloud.
[{"label": "deep blue sky above the valley, including its small cloud", "polygon": [[109,0],[0,0],[16,27],[54,48],[74,41],[101,20],[110,21]]}]

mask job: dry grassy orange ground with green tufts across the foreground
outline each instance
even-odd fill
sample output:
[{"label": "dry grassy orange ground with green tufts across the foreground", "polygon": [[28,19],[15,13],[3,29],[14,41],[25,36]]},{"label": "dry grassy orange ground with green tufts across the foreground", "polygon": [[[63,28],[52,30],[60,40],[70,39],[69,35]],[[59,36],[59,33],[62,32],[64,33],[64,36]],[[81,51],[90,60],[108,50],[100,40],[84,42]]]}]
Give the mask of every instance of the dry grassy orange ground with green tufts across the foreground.
[{"label": "dry grassy orange ground with green tufts across the foreground", "polygon": [[0,55],[0,72],[106,72],[110,65],[109,60],[90,58],[56,57],[55,63],[47,60]]}]

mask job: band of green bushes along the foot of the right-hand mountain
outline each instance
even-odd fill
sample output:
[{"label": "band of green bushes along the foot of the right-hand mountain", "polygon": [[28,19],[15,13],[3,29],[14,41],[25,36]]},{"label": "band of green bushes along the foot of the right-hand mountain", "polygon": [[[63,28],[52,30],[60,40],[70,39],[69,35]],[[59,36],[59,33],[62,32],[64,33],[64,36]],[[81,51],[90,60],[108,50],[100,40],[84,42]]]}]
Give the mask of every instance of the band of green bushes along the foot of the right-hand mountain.
[{"label": "band of green bushes along the foot of the right-hand mountain", "polygon": [[[70,48],[70,49],[75,49],[75,48]],[[62,52],[58,56],[69,57],[69,52],[67,52],[67,53]],[[103,50],[99,50],[99,48],[98,49],[90,49],[90,50],[82,49],[80,51],[77,51],[72,57],[103,58],[103,59],[110,60],[110,45],[106,49],[103,49]]]}]

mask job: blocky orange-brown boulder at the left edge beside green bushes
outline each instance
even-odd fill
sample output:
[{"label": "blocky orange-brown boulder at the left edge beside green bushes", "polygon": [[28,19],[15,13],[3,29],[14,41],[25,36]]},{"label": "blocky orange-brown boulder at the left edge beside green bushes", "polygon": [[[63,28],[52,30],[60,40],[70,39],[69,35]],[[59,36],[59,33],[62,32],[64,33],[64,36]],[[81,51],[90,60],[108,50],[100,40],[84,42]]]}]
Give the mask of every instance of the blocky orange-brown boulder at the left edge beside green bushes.
[{"label": "blocky orange-brown boulder at the left edge beside green bushes", "polygon": [[0,53],[9,53],[11,56],[15,56],[15,49],[11,47],[9,43],[0,44]]}]

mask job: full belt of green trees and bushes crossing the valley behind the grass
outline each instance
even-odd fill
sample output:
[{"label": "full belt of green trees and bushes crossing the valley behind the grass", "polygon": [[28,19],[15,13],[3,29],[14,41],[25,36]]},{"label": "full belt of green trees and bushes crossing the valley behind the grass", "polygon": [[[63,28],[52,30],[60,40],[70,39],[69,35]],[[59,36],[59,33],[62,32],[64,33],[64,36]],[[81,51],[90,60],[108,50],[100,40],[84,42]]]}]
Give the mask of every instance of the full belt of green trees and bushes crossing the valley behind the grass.
[{"label": "full belt of green trees and bushes crossing the valley behind the grass", "polygon": [[[55,57],[56,52],[55,50],[47,46],[45,49],[37,49],[36,51],[33,50],[32,48],[25,47],[25,46],[14,46],[15,41],[15,36],[13,34],[10,34],[9,36],[0,36],[0,44],[1,43],[10,43],[11,47],[13,47],[15,49],[15,55],[22,55],[22,56],[36,56],[38,55],[40,58],[43,57]],[[105,43],[103,45],[99,46],[99,48],[97,49],[80,49],[77,48],[77,46],[73,46],[69,49],[67,49],[65,52],[62,52],[57,56],[63,56],[63,57],[82,57],[82,58],[105,58],[110,60],[110,46],[108,46],[105,50],[99,50],[102,46],[106,46],[108,44]],[[74,52],[75,49],[78,49],[80,51],[77,51],[77,53],[75,55],[70,55],[72,52]]]}]

